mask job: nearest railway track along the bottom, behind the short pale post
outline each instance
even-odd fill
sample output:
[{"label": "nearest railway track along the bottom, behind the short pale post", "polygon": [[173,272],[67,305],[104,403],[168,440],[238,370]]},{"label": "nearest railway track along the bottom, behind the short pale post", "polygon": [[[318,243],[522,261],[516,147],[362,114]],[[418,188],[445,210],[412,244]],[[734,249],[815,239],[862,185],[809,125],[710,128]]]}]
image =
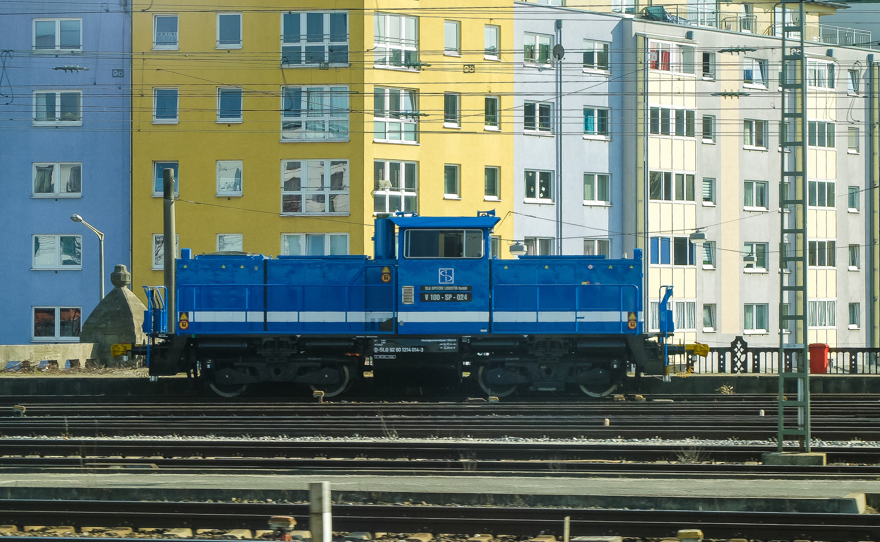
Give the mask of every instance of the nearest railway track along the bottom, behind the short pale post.
[{"label": "nearest railway track along the bottom, behind the short pale post", "polygon": [[[699,528],[705,538],[821,539],[831,542],[880,536],[880,515],[682,510],[400,506],[337,504],[335,531],[481,532],[544,531],[573,536],[663,537]],[[190,529],[265,529],[269,516],[294,516],[306,524],[307,504],[231,502],[0,501],[4,524],[114,525]],[[4,537],[5,538],[5,537]]]}]

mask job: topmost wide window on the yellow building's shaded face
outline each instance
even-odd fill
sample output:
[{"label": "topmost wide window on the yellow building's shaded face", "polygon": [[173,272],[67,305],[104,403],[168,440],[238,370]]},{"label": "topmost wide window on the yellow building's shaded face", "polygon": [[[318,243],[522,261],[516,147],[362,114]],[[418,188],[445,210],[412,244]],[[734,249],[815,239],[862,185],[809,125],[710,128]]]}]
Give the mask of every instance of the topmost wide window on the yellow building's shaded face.
[{"label": "topmost wide window on the yellow building's shaded face", "polygon": [[282,14],[281,63],[285,67],[348,65],[348,11]]}]

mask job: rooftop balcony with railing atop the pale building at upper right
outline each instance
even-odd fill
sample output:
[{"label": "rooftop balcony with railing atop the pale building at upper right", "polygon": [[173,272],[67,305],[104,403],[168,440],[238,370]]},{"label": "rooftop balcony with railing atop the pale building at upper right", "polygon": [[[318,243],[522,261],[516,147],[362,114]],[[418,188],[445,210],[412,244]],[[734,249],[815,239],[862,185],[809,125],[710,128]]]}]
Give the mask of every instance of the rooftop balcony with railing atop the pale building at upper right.
[{"label": "rooftop balcony with railing atop the pale building at upper right", "polygon": [[[773,22],[758,21],[755,15],[717,11],[689,5],[652,5],[642,10],[642,18],[684,26],[703,26],[739,33],[766,36],[779,35],[781,27]],[[871,47],[869,30],[857,30],[845,26],[808,23],[804,25],[807,41],[828,45],[851,45]]]}]

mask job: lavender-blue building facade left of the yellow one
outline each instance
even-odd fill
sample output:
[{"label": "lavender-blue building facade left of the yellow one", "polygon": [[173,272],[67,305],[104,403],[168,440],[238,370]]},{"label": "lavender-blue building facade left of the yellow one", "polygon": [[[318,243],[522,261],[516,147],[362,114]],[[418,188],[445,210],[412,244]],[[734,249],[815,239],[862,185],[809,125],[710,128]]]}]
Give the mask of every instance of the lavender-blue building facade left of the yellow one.
[{"label": "lavender-blue building facade left of the yellow one", "polygon": [[[130,267],[130,3],[4,3],[0,21],[0,344],[77,342],[99,274]],[[106,233],[103,270],[71,215]]]}]

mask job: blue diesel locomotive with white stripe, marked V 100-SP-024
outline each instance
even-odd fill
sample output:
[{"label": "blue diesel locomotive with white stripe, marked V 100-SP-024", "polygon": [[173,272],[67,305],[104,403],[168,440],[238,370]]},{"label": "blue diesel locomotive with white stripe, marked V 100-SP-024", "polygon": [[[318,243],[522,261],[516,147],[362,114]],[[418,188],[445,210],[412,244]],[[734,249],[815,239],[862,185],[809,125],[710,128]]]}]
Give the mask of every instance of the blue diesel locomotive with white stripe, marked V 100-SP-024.
[{"label": "blue diesel locomotive with white stripe, marked V 100-SP-024", "polygon": [[499,260],[488,251],[498,221],[492,211],[378,218],[373,259],[183,249],[178,331],[167,332],[164,287],[144,287],[150,340],[133,353],[150,376],[192,371],[228,397],[262,382],[330,397],[365,370],[377,385],[419,386],[469,372],[499,397],[520,386],[601,397],[627,370],[664,374],[662,340],[644,330],[640,249],[626,260]]}]

